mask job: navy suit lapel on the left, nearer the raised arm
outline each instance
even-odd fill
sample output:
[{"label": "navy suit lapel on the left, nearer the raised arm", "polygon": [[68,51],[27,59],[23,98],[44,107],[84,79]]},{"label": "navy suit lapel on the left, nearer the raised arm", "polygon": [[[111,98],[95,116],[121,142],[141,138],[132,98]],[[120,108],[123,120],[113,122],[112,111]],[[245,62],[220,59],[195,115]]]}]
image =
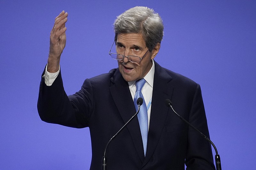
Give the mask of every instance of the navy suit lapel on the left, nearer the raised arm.
[{"label": "navy suit lapel on the left, nearer the raised arm", "polygon": [[[109,90],[124,123],[126,123],[136,113],[129,85],[124,80],[118,69],[110,81],[113,84],[110,85]],[[136,148],[140,160],[143,162],[144,150],[137,116],[127,125],[127,129],[130,132],[133,145]]]}]

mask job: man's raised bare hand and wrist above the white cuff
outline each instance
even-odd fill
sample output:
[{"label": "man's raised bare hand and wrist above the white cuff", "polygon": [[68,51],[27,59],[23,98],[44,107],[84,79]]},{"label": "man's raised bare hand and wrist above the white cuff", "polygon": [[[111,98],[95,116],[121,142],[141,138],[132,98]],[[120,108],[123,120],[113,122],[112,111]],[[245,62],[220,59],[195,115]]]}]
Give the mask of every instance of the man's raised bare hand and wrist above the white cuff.
[{"label": "man's raised bare hand and wrist above the white cuff", "polygon": [[47,71],[54,73],[59,70],[60,55],[66,46],[66,30],[65,24],[68,20],[68,13],[62,11],[55,18],[54,26],[50,35],[50,51],[48,56]]}]

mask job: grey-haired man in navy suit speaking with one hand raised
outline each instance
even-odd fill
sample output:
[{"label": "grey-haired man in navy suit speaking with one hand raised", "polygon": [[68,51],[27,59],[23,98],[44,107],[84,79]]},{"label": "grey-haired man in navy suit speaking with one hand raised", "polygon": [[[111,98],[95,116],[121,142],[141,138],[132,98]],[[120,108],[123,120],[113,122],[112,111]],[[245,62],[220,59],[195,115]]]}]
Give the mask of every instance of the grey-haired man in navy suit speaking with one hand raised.
[{"label": "grey-haired man in navy suit speaking with one hand raised", "polygon": [[200,86],[153,60],[163,38],[160,16],[147,7],[134,7],[118,16],[114,23],[116,48],[109,52],[118,60],[118,69],[86,79],[81,90],[70,96],[64,91],[60,73],[67,16],[62,11],[51,31],[37,105],[41,119],[89,127],[90,169],[99,170],[106,144],[135,114],[137,98],[142,97],[145,105],[138,117],[108,146],[108,169],[180,170],[184,162],[188,170],[215,169],[211,145],[165,105],[165,99],[172,100],[176,111],[209,137]]}]

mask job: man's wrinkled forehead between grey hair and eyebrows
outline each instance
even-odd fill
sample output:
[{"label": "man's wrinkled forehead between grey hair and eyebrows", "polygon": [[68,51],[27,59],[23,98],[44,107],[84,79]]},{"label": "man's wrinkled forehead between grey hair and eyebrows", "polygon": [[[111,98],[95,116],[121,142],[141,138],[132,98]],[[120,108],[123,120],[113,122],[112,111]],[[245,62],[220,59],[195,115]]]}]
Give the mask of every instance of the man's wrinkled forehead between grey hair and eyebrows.
[{"label": "man's wrinkled forehead between grey hair and eyebrows", "polygon": [[146,48],[146,42],[140,33],[119,33],[116,43],[122,43],[124,46],[140,46]]}]

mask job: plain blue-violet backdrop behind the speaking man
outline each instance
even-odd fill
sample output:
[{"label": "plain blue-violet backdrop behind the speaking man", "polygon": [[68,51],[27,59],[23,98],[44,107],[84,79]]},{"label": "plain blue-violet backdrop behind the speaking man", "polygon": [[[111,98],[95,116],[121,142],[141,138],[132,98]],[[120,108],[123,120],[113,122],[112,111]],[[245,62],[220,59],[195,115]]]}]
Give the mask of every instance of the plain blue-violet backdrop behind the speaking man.
[{"label": "plain blue-violet backdrop behind the speaking man", "polygon": [[113,22],[134,6],[153,8],[163,18],[156,62],[201,85],[222,169],[255,167],[256,1],[2,0],[0,169],[89,169],[89,129],[45,123],[37,113],[50,31],[67,11],[60,65],[65,90],[73,94],[85,78],[117,67],[108,55]]}]

